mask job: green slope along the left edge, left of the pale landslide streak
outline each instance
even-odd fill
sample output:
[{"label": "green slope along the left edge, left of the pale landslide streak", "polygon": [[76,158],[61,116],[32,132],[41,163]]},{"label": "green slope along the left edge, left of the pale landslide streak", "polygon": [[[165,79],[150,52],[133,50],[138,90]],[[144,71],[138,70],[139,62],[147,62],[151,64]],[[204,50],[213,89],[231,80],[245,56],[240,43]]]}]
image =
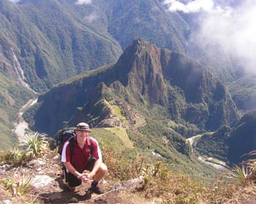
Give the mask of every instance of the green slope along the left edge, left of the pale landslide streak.
[{"label": "green slope along the left edge, left of the pale landslide streak", "polygon": [[[17,14],[15,18],[8,15],[10,10]],[[14,25],[23,26],[22,18],[23,14],[12,2],[0,1],[0,147],[3,149],[18,141],[12,132],[13,122],[17,119],[18,109],[34,95],[23,81],[23,71],[15,52],[17,33]]]}]

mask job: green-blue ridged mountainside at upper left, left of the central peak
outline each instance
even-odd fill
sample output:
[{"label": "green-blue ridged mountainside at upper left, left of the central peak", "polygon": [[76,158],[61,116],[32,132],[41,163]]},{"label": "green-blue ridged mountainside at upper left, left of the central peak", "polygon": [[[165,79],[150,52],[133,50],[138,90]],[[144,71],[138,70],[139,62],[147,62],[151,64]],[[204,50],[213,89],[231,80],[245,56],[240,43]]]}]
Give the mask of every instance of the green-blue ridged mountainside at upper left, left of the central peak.
[{"label": "green-blue ridged mountainside at upper left, left of the central peak", "polygon": [[43,93],[121,54],[107,32],[87,28],[55,0],[1,0],[0,30],[0,138],[6,147],[15,144],[12,128],[18,109],[33,95],[27,87]]}]

